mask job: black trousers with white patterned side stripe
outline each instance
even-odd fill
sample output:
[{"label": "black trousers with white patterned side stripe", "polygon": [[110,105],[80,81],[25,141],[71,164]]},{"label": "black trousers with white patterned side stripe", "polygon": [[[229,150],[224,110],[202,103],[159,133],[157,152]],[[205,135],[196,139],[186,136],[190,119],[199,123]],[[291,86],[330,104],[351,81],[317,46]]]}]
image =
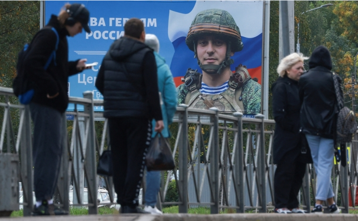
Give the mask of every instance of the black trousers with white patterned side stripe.
[{"label": "black trousers with white patterned side stripe", "polygon": [[136,117],[108,118],[113,184],[121,206],[138,205],[138,194],[151,140],[151,121]]}]

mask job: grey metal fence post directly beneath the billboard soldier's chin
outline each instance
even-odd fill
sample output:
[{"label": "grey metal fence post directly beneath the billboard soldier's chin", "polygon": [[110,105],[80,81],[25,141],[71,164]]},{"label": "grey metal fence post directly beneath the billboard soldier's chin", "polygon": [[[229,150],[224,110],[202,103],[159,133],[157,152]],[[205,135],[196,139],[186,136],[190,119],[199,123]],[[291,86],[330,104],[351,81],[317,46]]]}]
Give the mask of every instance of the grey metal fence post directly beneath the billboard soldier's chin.
[{"label": "grey metal fence post directly beneath the billboard soldier's chin", "polygon": [[214,203],[210,207],[211,214],[219,213],[219,110],[216,107],[211,107],[209,110],[215,111],[215,115],[211,116],[210,121],[214,127],[214,139],[213,146],[210,153],[210,175],[211,175],[211,186],[213,188],[213,196],[211,196],[211,203]]}]

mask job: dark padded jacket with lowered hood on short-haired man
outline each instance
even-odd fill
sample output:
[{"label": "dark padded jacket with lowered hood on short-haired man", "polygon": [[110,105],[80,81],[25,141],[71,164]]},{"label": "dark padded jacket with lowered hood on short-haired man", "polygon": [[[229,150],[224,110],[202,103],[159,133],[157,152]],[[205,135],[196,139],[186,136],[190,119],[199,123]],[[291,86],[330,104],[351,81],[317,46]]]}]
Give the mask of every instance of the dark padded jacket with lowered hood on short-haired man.
[{"label": "dark padded jacket with lowered hood on short-haired man", "polygon": [[110,47],[98,72],[96,87],[104,97],[105,117],[162,120],[153,50],[121,37]]}]

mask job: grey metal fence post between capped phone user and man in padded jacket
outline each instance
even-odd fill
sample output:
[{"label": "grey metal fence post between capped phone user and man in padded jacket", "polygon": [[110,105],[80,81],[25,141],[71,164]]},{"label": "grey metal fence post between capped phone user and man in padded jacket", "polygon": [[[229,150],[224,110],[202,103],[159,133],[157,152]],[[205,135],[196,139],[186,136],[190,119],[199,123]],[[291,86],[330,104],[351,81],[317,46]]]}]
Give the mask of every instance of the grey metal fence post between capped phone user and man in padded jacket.
[{"label": "grey metal fence post between capped phone user and man in padded jacket", "polygon": [[[89,119],[86,117],[86,120],[89,121],[89,130],[87,136],[87,146],[86,146],[86,160],[84,165],[86,167],[86,177],[88,181],[88,194],[91,194],[92,197],[88,196],[88,204],[93,206],[88,206],[88,214],[97,214],[97,168],[96,168],[96,131],[95,131],[95,118],[93,113],[93,92],[85,91],[83,92],[83,97],[92,100],[91,104],[84,105],[84,113],[89,114]],[[92,202],[91,202],[92,201]]]}]

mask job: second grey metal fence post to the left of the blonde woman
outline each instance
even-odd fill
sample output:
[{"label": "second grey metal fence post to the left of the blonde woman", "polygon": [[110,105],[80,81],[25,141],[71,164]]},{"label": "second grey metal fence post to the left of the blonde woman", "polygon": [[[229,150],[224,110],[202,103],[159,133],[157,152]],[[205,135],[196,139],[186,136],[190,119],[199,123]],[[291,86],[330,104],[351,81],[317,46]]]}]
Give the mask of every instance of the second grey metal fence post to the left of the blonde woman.
[{"label": "second grey metal fence post to the left of the blonde woman", "polygon": [[234,161],[234,174],[236,182],[236,189],[239,192],[239,209],[236,209],[237,213],[244,213],[245,212],[245,201],[244,201],[244,171],[243,171],[243,164],[245,163],[244,160],[244,153],[243,153],[243,144],[242,144],[242,113],[241,112],[235,112],[234,116],[237,117],[237,145],[234,146],[234,148],[237,148],[235,150]]}]

